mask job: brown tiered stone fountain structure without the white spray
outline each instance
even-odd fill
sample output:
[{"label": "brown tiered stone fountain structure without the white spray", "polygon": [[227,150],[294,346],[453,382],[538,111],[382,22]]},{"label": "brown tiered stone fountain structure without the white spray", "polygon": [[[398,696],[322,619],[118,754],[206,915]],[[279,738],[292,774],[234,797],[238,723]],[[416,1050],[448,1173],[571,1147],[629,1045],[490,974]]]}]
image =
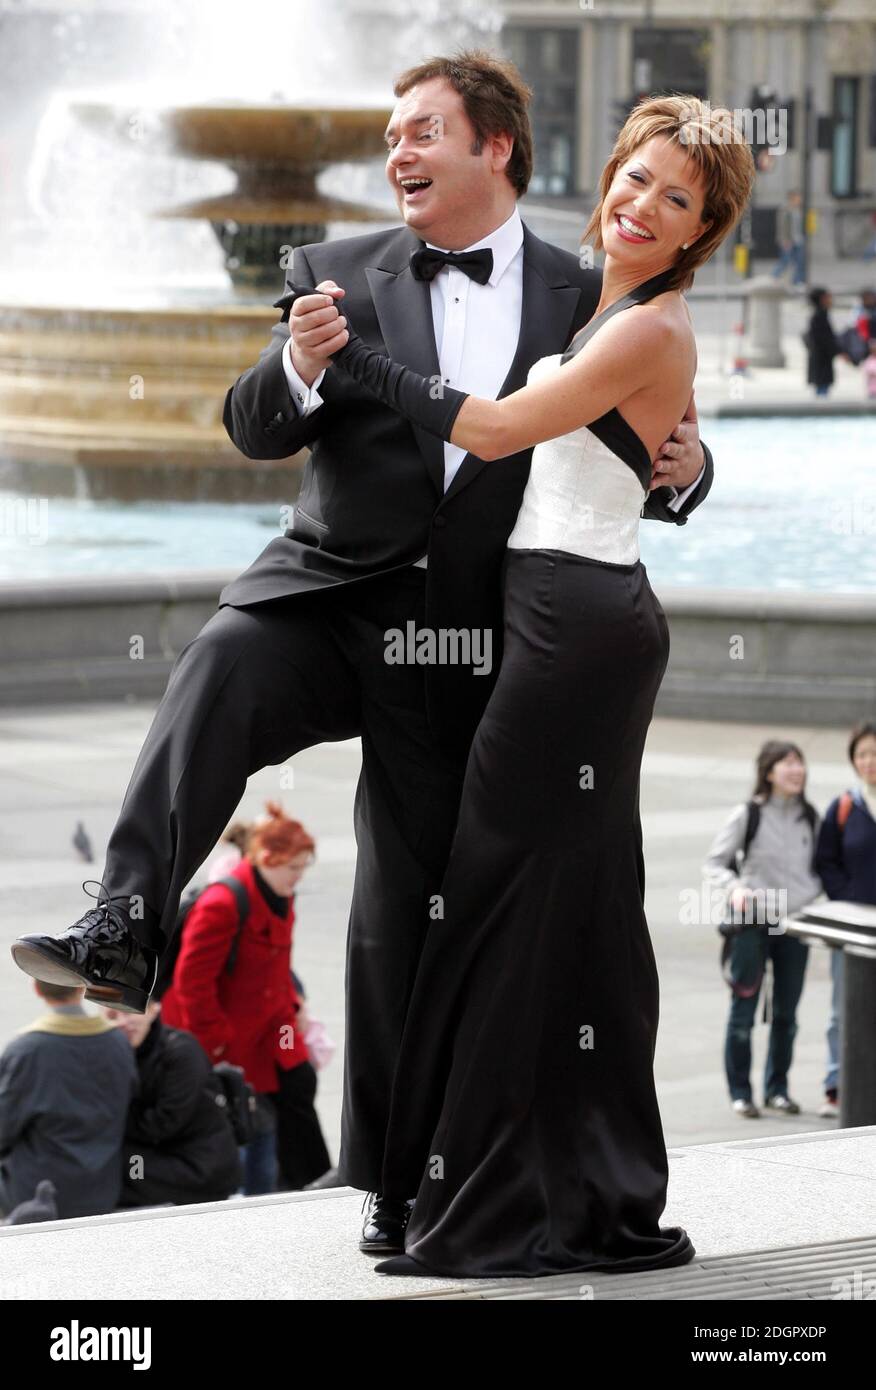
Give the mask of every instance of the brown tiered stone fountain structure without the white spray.
[{"label": "brown tiered stone fountain structure without the white spray", "polygon": [[[120,136],[142,120],[100,101],[74,114]],[[323,240],[330,221],[387,221],[323,196],[316,179],[380,156],[388,118],[387,107],[256,103],[150,113],[157,143],[236,175],[232,192],[159,214],[211,224],[232,289],[197,306],[0,304],[3,481],[95,498],[275,498],[296,460],[246,467],[221,423],[224,396],[268,342],[291,247]]]}]

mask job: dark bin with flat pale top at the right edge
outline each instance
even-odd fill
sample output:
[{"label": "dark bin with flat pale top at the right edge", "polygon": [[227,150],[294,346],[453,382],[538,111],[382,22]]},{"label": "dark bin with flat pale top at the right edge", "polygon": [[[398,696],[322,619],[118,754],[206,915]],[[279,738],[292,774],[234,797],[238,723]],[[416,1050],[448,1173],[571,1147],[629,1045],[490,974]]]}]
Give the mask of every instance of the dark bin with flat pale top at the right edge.
[{"label": "dark bin with flat pale top at the right edge", "polygon": [[840,1126],[876,1125],[876,908],[818,902],[783,917],[781,931],[843,952]]}]

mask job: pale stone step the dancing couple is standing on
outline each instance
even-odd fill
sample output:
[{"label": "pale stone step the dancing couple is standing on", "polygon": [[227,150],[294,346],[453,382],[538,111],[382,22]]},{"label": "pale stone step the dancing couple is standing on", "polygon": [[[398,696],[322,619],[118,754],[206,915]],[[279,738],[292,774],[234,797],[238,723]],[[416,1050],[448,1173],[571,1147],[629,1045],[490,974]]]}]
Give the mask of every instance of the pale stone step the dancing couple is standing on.
[{"label": "pale stone step the dancing couple is standing on", "polygon": [[[876,1290],[876,1126],[669,1151],[663,1225],[697,1258],[645,1275],[375,1275],[349,1187],[0,1229],[0,1300],[843,1300]],[[868,1284],[870,1293],[868,1294]]]}]

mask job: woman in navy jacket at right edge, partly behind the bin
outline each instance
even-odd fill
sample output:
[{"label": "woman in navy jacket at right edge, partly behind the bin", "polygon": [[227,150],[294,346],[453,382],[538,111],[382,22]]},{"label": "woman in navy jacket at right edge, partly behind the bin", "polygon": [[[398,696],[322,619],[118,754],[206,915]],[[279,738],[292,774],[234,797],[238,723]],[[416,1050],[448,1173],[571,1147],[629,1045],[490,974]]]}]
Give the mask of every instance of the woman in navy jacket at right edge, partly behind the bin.
[{"label": "woman in navy jacket at right edge, partly behind the bin", "polygon": [[[858,785],[830,802],[818,837],[815,867],[825,892],[841,902],[876,905],[876,724],[858,724],[848,741]],[[827,1024],[827,1074],[819,1115],[838,1115],[843,951],[830,952],[833,991]]]}]

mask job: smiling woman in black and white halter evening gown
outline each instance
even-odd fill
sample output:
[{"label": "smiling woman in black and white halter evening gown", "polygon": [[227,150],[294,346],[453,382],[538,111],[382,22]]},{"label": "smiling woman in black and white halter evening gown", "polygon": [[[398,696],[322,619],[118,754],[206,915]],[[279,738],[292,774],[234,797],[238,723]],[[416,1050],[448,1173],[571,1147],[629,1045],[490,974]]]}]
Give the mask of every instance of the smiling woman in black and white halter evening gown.
[{"label": "smiling woman in black and white halter evening gown", "polygon": [[332,357],[480,459],[535,445],[505,560],[502,666],[402,1038],[382,1193],[416,1201],[384,1273],[641,1270],[695,1254],[659,1225],[638,785],[669,632],[638,521],[691,395],[681,289],[751,189],[738,139],[680,135],[722,114],[702,113],[667,97],[630,115],[588,227],[606,253],[599,307],[524,389],[432,400],[349,324]]}]

